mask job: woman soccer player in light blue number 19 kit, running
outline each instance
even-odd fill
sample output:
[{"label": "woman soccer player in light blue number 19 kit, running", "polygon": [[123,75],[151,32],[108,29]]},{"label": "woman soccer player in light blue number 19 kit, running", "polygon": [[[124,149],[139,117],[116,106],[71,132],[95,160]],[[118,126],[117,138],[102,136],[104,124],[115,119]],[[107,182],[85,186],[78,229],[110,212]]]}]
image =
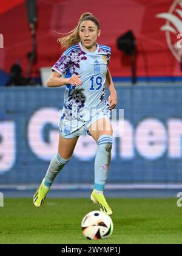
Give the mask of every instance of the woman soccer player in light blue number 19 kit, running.
[{"label": "woman soccer player in light blue number 19 kit, running", "polygon": [[[96,43],[101,34],[99,22],[92,13],[84,13],[70,35],[59,38],[66,51],[52,68],[48,87],[66,85],[64,108],[59,129],[58,153],[52,158],[41,186],[33,196],[36,207],[42,205],[58,172],[69,162],[79,135],[88,133],[98,144],[95,158],[95,182],[90,199],[102,212],[112,214],[103,195],[112,149],[111,110],[117,96],[109,65],[110,48]],[[109,102],[105,98],[109,88]]]}]

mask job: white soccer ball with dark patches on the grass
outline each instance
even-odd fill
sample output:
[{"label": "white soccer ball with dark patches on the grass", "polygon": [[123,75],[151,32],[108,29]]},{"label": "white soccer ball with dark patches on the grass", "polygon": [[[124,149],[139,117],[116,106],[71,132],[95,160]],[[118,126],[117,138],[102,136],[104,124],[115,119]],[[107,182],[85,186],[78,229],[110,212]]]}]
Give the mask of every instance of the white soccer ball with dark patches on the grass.
[{"label": "white soccer ball with dark patches on the grass", "polygon": [[113,222],[109,215],[93,211],[84,216],[81,229],[87,239],[109,238],[113,232]]}]

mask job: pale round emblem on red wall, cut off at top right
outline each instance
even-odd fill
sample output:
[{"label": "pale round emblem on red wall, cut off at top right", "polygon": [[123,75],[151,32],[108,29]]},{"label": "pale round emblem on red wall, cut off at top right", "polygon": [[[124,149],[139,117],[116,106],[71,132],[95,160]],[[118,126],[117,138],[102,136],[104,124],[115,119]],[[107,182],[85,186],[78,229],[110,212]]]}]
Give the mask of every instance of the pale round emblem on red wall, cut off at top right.
[{"label": "pale round emblem on red wall, cut off at top right", "polygon": [[159,13],[157,18],[166,20],[161,31],[166,32],[167,45],[175,58],[181,62],[182,57],[182,0],[175,0],[169,12]]}]

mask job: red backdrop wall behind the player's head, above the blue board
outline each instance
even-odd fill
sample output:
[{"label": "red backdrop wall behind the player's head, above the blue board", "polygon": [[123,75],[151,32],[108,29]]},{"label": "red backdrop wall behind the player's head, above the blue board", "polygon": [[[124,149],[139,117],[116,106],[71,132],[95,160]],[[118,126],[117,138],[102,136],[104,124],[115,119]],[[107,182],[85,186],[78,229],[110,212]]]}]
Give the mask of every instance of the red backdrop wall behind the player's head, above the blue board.
[{"label": "red backdrop wall behind the player's head, above the blue board", "polygon": [[[112,76],[130,76],[130,59],[116,47],[116,38],[132,30],[137,40],[137,76],[181,76],[181,50],[175,57],[169,49],[169,40],[177,43],[177,34],[182,33],[181,0],[37,0],[38,27],[36,30],[38,58],[32,75],[38,76],[39,68],[52,66],[62,49],[56,43],[58,32],[69,32],[78,23],[84,12],[92,12],[101,24],[98,43],[112,48],[110,71]],[[178,11],[177,11],[178,10]],[[157,17],[170,13],[181,25],[181,31],[172,21]],[[180,23],[181,22],[181,23]],[[161,30],[165,24],[175,33]],[[0,49],[0,68],[9,71],[19,62],[27,69],[27,52],[32,50],[29,24],[24,0],[6,0],[0,5],[0,33],[4,36],[4,49]],[[168,40],[168,44],[167,44]],[[172,46],[170,46],[172,47]]]}]

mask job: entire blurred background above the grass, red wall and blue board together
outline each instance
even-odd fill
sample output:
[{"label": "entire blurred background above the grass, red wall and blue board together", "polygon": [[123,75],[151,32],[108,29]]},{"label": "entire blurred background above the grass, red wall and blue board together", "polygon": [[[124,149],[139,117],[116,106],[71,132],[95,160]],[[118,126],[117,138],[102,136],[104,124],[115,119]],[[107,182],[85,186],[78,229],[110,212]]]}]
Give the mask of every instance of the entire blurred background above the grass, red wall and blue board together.
[{"label": "entire blurred background above the grass, red wall and blue board together", "polygon": [[[64,87],[45,87],[63,52],[56,32],[69,32],[92,12],[101,24],[98,43],[112,48],[116,108],[124,109],[107,194],[176,197],[182,191],[182,1],[37,0],[36,12],[33,2],[0,5],[0,191],[32,195],[56,153]],[[93,139],[80,137],[50,196],[88,196],[95,153]]]}]

